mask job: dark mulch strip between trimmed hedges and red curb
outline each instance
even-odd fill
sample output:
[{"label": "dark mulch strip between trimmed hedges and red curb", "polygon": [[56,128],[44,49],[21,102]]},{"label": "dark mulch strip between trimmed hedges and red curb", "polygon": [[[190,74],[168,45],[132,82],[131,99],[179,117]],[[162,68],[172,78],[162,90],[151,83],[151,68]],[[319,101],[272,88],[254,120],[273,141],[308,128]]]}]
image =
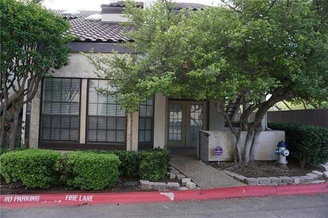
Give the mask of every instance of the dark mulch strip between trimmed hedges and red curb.
[{"label": "dark mulch strip between trimmed hedges and red curb", "polygon": [[[165,177],[163,180],[159,180],[157,182],[172,182],[172,183],[179,183],[181,185],[181,181],[172,180]],[[49,194],[49,193],[104,193],[104,192],[140,192],[140,191],[157,191],[155,189],[142,189],[139,186],[139,180],[137,178],[127,179],[125,177],[120,177],[119,180],[116,182],[114,187],[107,188],[104,190],[93,191],[93,190],[70,190],[65,189],[63,187],[50,187],[48,189],[27,189],[21,183],[13,183],[13,184],[5,184],[4,181],[1,181],[0,185],[0,193],[1,194]]]}]

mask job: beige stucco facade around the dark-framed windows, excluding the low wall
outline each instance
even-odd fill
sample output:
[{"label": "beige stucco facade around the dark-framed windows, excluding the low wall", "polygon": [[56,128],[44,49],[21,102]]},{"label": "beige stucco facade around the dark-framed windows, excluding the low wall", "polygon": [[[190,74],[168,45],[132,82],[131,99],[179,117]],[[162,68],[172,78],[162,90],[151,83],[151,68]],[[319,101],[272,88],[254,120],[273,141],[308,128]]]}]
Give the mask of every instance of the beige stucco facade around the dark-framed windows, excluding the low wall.
[{"label": "beige stucco facade around the dark-framed windows, excluding the low wall", "polygon": [[[92,54],[98,55],[98,54]],[[80,115],[79,115],[79,143],[86,143],[88,79],[98,78],[94,67],[87,58],[80,53],[71,53],[70,64],[52,74],[53,77],[68,77],[81,79]],[[42,84],[31,103],[29,147],[38,148],[40,129],[40,104],[42,103]],[[162,94],[155,95],[154,113],[154,147],[165,146],[166,102]],[[26,120],[26,105],[23,109],[23,122]],[[126,116],[126,150],[138,150],[139,113],[134,112]],[[24,143],[24,132],[22,133]]]}]

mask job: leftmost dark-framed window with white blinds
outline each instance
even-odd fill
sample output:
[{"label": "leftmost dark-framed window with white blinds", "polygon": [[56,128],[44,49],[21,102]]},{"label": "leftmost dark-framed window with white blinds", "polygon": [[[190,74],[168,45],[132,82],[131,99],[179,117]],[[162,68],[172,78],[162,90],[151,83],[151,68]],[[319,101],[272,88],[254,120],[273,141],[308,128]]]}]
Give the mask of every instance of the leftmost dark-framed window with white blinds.
[{"label": "leftmost dark-framed window with white blinds", "polygon": [[41,141],[78,142],[80,79],[45,78]]}]

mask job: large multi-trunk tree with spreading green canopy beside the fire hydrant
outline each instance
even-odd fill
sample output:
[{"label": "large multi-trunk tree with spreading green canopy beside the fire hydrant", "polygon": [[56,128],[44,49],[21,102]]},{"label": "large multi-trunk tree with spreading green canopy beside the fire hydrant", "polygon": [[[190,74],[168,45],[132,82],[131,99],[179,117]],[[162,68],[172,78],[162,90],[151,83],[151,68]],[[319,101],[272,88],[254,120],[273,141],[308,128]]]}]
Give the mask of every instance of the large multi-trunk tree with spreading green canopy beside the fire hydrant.
[{"label": "large multi-trunk tree with spreading green canopy beside the fire hydrant", "polygon": [[[140,9],[128,2],[125,25],[137,55],[90,56],[100,77],[118,87],[127,111],[145,96],[216,100],[236,136],[236,163],[254,161],[265,113],[282,100],[321,102],[328,96],[326,2],[229,1],[176,14],[174,3]],[[101,91],[101,90],[100,90]],[[239,128],[224,108],[242,96]],[[255,120],[250,121],[255,112]],[[242,125],[248,128],[240,149]]]}]

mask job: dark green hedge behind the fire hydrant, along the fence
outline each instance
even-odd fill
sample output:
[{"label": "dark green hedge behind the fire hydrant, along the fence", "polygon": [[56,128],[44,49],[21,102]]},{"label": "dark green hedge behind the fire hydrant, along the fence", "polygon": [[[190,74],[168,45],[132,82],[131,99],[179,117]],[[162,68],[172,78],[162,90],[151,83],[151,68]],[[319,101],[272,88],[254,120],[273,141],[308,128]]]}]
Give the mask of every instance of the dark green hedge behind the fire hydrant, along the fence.
[{"label": "dark green hedge behind the fire hydrant, along the fence", "polygon": [[269,122],[269,127],[285,131],[287,148],[301,167],[328,161],[328,129],[317,126]]}]

